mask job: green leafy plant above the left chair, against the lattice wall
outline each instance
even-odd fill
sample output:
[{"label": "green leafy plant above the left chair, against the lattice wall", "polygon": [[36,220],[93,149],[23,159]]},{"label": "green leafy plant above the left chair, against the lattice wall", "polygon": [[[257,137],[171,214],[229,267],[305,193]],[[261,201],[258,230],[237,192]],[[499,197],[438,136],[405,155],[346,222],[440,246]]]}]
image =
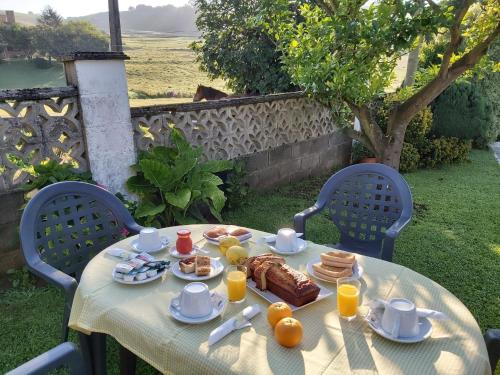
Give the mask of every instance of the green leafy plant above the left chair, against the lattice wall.
[{"label": "green leafy plant above the left chair, against the lattice wall", "polygon": [[94,183],[90,172],[80,172],[71,164],[59,164],[55,160],[46,160],[33,166],[30,182],[23,185],[23,190],[42,189],[60,181],[82,181]]}]

